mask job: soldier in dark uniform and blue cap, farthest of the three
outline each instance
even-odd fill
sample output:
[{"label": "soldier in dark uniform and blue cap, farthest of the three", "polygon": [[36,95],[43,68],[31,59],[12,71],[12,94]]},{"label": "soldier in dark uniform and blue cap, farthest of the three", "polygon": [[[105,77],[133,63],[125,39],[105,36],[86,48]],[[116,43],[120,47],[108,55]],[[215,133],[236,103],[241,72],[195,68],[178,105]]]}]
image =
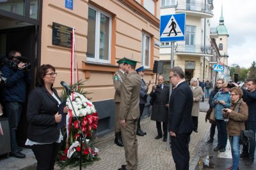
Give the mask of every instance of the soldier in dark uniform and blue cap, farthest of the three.
[{"label": "soldier in dark uniform and blue cap, farthest of the three", "polygon": [[[147,92],[148,92],[148,86],[147,84],[145,83],[145,81],[143,80],[143,76],[144,76],[144,67],[141,66],[139,67],[138,69],[136,69],[136,72],[139,74],[140,78],[141,78],[141,89],[140,89],[140,118],[143,114],[143,110],[144,110],[144,107],[145,107],[145,104],[147,103]],[[140,118],[138,119],[138,127],[137,127],[137,132],[136,134],[138,136],[144,136],[146,135],[147,133],[146,132],[143,132],[141,130],[141,127],[140,127]]]}]

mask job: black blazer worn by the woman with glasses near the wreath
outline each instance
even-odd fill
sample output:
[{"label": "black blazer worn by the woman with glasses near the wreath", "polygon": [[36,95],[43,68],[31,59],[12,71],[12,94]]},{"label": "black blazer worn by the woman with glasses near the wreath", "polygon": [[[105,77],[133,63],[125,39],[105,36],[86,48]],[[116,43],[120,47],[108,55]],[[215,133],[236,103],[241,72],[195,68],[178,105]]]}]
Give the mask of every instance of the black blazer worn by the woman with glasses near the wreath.
[{"label": "black blazer worn by the woman with glasses near the wreath", "polygon": [[[54,94],[60,99],[55,89]],[[60,130],[54,115],[58,112],[58,101],[45,89],[36,87],[28,97],[28,139],[38,143],[51,143],[60,138]]]}]

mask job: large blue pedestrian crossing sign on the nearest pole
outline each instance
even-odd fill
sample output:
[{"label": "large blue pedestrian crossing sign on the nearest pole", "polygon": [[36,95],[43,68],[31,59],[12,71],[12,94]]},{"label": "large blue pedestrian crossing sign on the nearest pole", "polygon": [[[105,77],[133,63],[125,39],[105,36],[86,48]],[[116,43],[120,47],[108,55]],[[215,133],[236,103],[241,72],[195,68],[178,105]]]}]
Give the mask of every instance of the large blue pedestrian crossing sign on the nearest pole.
[{"label": "large blue pedestrian crossing sign on the nearest pole", "polygon": [[160,17],[160,41],[184,41],[185,13],[162,15]]}]

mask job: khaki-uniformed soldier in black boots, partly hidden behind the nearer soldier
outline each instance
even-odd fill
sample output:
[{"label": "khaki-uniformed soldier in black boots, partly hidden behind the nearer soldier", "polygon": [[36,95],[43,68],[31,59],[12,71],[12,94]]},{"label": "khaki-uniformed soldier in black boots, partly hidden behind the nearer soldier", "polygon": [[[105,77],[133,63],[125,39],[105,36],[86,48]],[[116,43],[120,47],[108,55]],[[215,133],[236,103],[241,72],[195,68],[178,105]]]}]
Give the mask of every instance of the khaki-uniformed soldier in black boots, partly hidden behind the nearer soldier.
[{"label": "khaki-uniformed soldier in black boots, partly hidden behind the nearer soldier", "polygon": [[113,83],[115,87],[115,144],[117,146],[124,146],[121,136],[121,130],[120,130],[120,120],[119,120],[119,108],[120,108],[120,90],[122,87],[122,83],[124,81],[124,78],[126,76],[126,73],[124,72],[124,58],[117,61],[119,69],[116,71],[115,75],[113,76]]}]

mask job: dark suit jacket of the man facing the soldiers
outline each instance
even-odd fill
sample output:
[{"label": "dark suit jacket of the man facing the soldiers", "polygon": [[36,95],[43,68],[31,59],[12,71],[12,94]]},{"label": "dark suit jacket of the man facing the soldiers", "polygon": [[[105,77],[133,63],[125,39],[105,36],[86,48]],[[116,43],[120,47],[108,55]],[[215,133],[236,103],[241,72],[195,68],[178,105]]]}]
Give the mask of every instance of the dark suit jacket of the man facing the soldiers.
[{"label": "dark suit jacket of the man facing the soldiers", "polygon": [[176,134],[191,134],[193,131],[193,93],[185,81],[172,92],[169,104],[168,131]]}]

